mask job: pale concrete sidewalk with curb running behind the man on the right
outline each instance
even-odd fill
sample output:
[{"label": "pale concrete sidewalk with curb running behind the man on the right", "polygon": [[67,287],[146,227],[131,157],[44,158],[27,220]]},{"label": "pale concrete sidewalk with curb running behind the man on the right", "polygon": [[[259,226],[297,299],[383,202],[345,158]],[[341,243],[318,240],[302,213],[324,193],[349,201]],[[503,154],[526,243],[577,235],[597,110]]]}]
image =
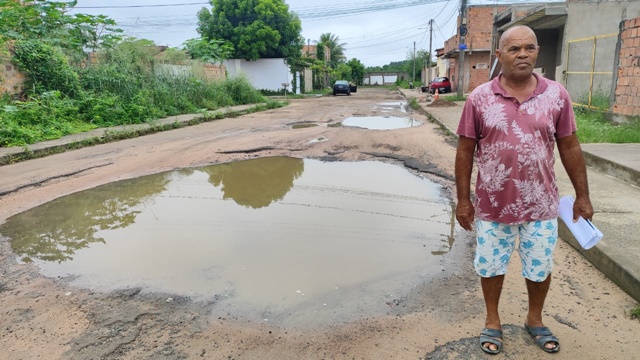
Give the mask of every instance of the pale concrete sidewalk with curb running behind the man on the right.
[{"label": "pale concrete sidewalk with curb running behind the man on the right", "polygon": [[[419,94],[408,92],[405,96]],[[440,98],[446,99],[442,95]],[[420,104],[436,122],[455,134],[464,102],[456,102],[452,107],[432,107],[431,102]],[[640,301],[640,144],[582,144],[582,150],[596,212],[593,223],[604,238],[595,247],[584,250],[562,221],[560,237]],[[575,196],[560,158],[556,157],[560,196]]]}]

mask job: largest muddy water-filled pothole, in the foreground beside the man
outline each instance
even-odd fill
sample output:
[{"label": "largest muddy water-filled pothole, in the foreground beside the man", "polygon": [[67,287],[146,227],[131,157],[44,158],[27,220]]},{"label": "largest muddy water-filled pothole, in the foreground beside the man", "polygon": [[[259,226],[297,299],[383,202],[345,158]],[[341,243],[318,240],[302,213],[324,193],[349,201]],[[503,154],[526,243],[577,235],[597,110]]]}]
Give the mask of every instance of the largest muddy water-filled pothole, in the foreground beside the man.
[{"label": "largest muddy water-filled pothole, in the foreground beside the man", "polygon": [[0,233],[22,262],[72,285],[189,296],[260,321],[340,322],[387,313],[441,271],[453,243],[441,192],[391,164],[259,158],[82,191]]}]

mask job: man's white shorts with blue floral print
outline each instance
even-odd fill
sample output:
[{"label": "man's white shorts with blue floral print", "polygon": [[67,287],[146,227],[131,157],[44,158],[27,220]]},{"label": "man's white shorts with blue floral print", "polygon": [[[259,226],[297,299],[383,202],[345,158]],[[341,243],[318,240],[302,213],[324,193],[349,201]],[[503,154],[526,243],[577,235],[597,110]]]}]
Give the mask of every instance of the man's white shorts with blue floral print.
[{"label": "man's white shorts with blue floral print", "polygon": [[522,276],[542,282],[553,268],[553,249],[558,242],[558,219],[508,225],[476,220],[476,257],[473,265],[482,277],[504,275],[520,235],[518,253]]}]

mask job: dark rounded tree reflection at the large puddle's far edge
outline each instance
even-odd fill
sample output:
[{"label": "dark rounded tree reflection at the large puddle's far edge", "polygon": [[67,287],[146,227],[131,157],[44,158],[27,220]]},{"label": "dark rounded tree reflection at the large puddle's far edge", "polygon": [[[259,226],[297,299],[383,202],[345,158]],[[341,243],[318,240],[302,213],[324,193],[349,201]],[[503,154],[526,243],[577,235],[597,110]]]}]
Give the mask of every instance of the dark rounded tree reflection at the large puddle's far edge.
[{"label": "dark rounded tree reflection at the large puddle's far edge", "polygon": [[222,184],[225,200],[233,199],[254,209],[281,200],[303,171],[304,161],[289,157],[258,158],[204,169],[211,184]]}]

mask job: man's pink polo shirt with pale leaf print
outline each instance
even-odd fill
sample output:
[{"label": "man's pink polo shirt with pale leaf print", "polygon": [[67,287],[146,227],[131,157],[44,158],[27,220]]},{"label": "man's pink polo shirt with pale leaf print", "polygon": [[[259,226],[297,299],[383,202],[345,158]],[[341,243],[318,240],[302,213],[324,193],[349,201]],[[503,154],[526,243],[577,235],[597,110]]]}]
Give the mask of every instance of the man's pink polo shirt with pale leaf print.
[{"label": "man's pink polo shirt with pale leaf print", "polygon": [[576,131],[575,116],[565,88],[534,75],[538,85],[522,104],[496,77],[464,105],[457,134],[478,142],[474,205],[481,220],[517,224],[558,216],[555,141]]}]

